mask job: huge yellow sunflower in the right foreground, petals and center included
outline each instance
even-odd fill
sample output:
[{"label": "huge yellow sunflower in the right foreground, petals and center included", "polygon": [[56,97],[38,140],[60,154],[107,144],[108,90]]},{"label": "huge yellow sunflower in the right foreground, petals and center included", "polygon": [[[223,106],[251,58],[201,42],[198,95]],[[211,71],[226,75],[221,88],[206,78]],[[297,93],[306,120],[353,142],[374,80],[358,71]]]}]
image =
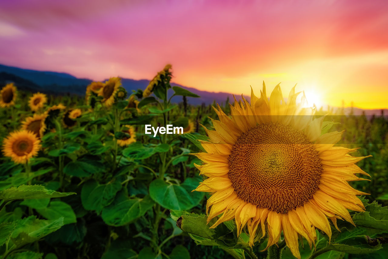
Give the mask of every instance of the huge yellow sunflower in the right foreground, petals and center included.
[{"label": "huge yellow sunflower in the right foreground, petals and center included", "polygon": [[348,181],[363,180],[356,173],[368,175],[355,163],[369,156],[354,157],[349,153],[357,149],[334,147],[343,131],[321,135],[324,117],[313,119],[315,110],[296,103],[300,93],[294,88],[287,103],[279,85],[268,100],[263,84],[260,98],[251,91],[250,104],[235,99],[231,116],[220,106],[215,109],[215,130],[204,128],[209,141],[201,142],[207,153],[195,154],[204,162],[196,167],[208,177],[196,190],[212,193],[208,222],[220,217],[211,228],[235,219],[237,235],[248,229],[250,246],[267,229],[267,248],[277,245],[283,231],[300,258],[298,234],[311,248],[315,228],[331,237],[328,218],[338,229],[337,219],[354,225],[348,209],[365,209],[356,195],[366,193]]}]

